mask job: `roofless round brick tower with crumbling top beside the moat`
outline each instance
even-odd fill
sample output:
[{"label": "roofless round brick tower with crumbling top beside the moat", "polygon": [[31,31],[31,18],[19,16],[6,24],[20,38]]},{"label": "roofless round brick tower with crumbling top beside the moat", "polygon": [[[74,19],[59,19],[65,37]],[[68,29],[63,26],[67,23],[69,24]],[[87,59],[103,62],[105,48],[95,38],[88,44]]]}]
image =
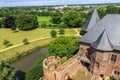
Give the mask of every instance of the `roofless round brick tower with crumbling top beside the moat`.
[{"label": "roofless round brick tower with crumbling top beside the moat", "polygon": [[56,80],[55,70],[59,62],[60,58],[55,56],[50,56],[43,61],[43,80]]}]

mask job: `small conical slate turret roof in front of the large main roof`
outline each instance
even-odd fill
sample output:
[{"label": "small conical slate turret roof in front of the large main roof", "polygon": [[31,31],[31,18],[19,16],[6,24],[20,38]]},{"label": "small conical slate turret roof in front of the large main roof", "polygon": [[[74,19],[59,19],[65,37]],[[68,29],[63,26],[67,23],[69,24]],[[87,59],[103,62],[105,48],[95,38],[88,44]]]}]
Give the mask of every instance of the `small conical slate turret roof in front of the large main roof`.
[{"label": "small conical slate turret roof in front of the large main roof", "polygon": [[97,50],[102,50],[102,51],[112,51],[113,50],[112,45],[110,43],[110,40],[109,40],[105,30],[98,37],[98,39],[92,43],[91,46]]}]

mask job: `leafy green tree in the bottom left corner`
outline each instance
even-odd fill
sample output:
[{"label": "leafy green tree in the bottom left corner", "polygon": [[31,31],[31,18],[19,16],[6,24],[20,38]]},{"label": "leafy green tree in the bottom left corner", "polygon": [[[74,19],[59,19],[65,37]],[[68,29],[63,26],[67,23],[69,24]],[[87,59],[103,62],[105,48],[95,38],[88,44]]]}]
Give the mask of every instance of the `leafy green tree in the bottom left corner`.
[{"label": "leafy green tree in the bottom left corner", "polygon": [[15,71],[2,60],[0,60],[0,80],[16,80]]}]

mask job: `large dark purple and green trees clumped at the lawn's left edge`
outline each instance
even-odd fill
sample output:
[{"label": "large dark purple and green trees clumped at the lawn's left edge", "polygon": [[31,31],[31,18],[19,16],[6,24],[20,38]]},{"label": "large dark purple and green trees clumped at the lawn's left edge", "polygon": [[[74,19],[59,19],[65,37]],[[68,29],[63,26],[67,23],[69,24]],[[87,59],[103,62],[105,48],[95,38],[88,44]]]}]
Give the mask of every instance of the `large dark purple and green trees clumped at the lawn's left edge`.
[{"label": "large dark purple and green trees clumped at the lawn's left edge", "polygon": [[11,28],[11,30],[32,30],[38,27],[36,15],[21,14],[18,16],[7,16],[0,20],[1,28]]}]

